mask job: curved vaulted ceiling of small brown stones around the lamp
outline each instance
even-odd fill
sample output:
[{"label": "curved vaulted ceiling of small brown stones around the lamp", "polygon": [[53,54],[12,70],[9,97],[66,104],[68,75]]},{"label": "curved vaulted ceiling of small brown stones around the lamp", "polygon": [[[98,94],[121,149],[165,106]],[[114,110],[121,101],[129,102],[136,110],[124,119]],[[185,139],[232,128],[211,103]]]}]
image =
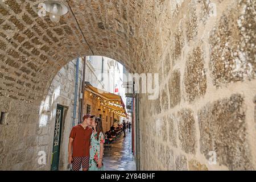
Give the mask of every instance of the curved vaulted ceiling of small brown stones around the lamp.
[{"label": "curved vaulted ceiling of small brown stones around the lamp", "polygon": [[[68,13],[59,23],[51,22],[48,14],[38,16],[41,2],[0,2],[0,78],[6,81],[2,96],[17,97],[9,86],[11,92],[25,89],[39,96],[63,65],[80,56],[111,57],[130,72],[152,66],[146,60],[155,59],[150,52],[159,41],[156,24],[162,1],[62,1]],[[33,100],[31,95],[22,97]]]}]

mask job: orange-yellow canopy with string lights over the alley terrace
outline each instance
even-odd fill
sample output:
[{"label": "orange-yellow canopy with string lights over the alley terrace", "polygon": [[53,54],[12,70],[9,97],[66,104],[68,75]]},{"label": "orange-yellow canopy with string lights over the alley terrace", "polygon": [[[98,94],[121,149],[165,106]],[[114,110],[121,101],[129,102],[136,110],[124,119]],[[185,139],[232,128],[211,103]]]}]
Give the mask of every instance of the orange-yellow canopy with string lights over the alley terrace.
[{"label": "orange-yellow canopy with string lights over the alley terrace", "polygon": [[106,109],[113,111],[115,114],[121,117],[127,117],[125,104],[123,103],[121,96],[98,89],[87,81],[85,82],[85,90],[96,95],[98,100],[101,101],[101,105],[106,107]]}]

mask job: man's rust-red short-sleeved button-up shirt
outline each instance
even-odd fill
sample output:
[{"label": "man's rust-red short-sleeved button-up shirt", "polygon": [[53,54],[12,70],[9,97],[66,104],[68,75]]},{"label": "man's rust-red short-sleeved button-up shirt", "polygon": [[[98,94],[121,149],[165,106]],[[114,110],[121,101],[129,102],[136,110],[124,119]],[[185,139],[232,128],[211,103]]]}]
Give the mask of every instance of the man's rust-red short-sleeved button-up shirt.
[{"label": "man's rust-red short-sleeved button-up shirt", "polygon": [[73,157],[83,157],[90,156],[90,136],[92,135],[92,128],[82,127],[81,124],[76,125],[72,128],[69,135],[70,138],[73,138]]}]

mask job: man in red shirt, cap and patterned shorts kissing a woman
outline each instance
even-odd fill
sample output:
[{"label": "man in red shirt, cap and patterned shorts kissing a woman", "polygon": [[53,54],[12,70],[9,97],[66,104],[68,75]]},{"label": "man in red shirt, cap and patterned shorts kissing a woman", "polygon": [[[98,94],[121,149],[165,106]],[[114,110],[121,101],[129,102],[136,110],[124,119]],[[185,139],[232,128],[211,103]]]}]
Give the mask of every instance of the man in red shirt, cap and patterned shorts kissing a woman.
[{"label": "man in red shirt, cap and patterned shorts kissing a woman", "polygon": [[[89,168],[90,135],[92,135],[92,119],[94,115],[86,114],[83,122],[72,128],[68,143],[68,163],[72,163],[73,171],[82,171]],[[73,148],[73,150],[72,150]],[[71,152],[72,151],[72,152]]]}]

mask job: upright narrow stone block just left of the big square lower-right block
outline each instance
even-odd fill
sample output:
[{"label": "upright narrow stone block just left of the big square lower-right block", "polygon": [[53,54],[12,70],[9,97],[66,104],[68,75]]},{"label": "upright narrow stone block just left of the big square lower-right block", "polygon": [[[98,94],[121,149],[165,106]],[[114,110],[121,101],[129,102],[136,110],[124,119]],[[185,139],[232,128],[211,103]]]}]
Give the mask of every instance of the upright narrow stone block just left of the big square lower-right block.
[{"label": "upright narrow stone block just left of the big square lower-right block", "polygon": [[195,154],[196,126],[191,109],[182,109],[177,113],[177,128],[182,150],[189,154]]}]

